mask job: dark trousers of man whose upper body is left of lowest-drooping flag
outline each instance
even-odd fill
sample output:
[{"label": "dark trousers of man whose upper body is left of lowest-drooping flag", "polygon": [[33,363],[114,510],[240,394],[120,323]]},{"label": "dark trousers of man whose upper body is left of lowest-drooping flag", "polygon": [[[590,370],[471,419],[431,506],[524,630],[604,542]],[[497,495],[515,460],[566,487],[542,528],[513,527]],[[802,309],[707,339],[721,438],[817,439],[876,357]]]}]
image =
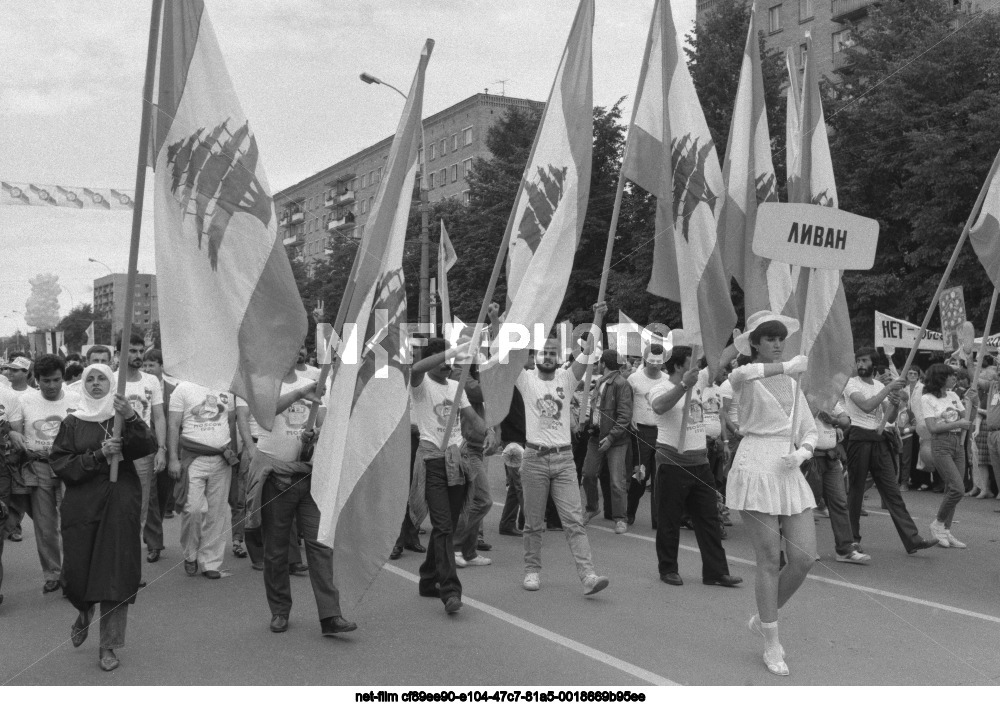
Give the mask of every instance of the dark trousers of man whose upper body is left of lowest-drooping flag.
[{"label": "dark trousers of man whose upper body is left of lowest-drooping flag", "polygon": [[311,477],[296,476],[286,487],[272,475],[261,493],[261,530],[264,535],[264,591],[271,615],[287,616],[292,610],[292,587],[288,575],[288,542],[292,521],[298,523],[305,540],[309,582],[319,619],[341,615],[340,592],[333,584],[333,549],[317,541],[319,508],[312,499]]}]

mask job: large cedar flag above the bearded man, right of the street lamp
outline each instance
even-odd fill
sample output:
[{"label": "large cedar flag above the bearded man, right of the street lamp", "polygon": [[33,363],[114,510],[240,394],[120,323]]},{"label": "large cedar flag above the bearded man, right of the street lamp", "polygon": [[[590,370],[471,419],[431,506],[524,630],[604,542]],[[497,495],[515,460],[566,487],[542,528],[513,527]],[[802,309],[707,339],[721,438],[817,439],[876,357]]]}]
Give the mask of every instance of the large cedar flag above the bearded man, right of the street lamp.
[{"label": "large cedar flag above the bearded man, right of the street lamp", "polygon": [[[566,295],[590,195],[593,34],[594,0],[581,0],[507,222],[508,326],[548,332]],[[528,358],[521,349],[501,361],[498,350],[495,341],[491,360],[480,368],[489,426],[507,416]]]}]

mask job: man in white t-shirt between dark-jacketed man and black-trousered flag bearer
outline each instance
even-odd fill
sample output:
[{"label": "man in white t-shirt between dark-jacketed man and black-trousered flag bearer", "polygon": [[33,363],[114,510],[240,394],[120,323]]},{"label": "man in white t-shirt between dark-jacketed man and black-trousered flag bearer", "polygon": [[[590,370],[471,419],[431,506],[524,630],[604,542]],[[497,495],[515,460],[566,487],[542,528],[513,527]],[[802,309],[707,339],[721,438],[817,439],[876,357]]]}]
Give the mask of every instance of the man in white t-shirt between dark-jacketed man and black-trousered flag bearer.
[{"label": "man in white t-shirt between dark-jacketed man and black-trousered flag bearer", "polygon": [[665,379],[663,363],[665,362],[663,346],[652,343],[646,346],[643,355],[643,366],[629,375],[628,384],[632,387],[632,421],[635,422],[635,446],[633,446],[633,472],[628,482],[628,507],[625,514],[628,524],[635,523],[635,513],[639,510],[639,501],[646,492],[648,480],[651,493],[649,496],[649,514],[656,529],[656,507],[653,498],[656,496],[656,412],[649,403],[650,391]]}]

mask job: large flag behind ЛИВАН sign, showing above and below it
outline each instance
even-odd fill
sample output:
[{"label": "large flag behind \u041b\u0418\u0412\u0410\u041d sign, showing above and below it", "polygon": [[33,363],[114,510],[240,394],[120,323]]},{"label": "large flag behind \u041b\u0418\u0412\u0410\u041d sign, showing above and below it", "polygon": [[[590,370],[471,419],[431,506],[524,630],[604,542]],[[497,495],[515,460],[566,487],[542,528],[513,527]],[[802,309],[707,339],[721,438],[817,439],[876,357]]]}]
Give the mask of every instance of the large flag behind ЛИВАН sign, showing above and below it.
[{"label": "large flag behind \u041b\u0418\u0412\u0410\u041d sign, showing above and below it", "polygon": [[[812,59],[811,41],[809,44],[796,195],[802,203],[836,208],[837,185],[819,93],[819,71]],[[829,412],[854,374],[854,337],[840,271],[802,268],[795,293],[803,312],[800,351],[809,356],[809,370],[801,377],[802,391],[813,414]]]}]

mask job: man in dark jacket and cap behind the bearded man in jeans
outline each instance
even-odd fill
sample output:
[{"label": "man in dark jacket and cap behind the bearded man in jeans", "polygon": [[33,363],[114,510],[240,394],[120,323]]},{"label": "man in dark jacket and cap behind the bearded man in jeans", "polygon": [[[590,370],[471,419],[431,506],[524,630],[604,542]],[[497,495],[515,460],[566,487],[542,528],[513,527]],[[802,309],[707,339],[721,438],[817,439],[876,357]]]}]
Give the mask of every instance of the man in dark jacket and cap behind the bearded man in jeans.
[{"label": "man in dark jacket and cap behind the bearded man in jeans", "polygon": [[590,438],[587,458],[583,462],[583,489],[587,494],[583,524],[589,523],[598,513],[597,477],[607,463],[615,534],[628,531],[625,461],[631,441],[628,428],[632,424],[632,387],[622,372],[626,366],[624,356],[619,357],[617,351],[609,349],[601,354],[597,366],[601,378],[591,395],[587,426]]}]

